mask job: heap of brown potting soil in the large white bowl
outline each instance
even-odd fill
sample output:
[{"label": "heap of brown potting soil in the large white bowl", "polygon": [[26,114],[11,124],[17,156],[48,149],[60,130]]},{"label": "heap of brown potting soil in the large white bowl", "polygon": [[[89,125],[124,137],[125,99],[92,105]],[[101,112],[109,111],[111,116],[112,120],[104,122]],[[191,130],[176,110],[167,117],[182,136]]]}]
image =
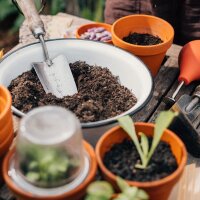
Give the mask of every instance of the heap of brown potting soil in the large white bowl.
[{"label": "heap of brown potting soil in the large white bowl", "polygon": [[117,116],[137,102],[118,77],[107,68],[90,66],[85,62],[70,63],[78,93],[62,99],[46,94],[32,69],[12,80],[9,90],[13,105],[27,112],[44,105],[60,105],[74,112],[81,122],[94,122]]}]

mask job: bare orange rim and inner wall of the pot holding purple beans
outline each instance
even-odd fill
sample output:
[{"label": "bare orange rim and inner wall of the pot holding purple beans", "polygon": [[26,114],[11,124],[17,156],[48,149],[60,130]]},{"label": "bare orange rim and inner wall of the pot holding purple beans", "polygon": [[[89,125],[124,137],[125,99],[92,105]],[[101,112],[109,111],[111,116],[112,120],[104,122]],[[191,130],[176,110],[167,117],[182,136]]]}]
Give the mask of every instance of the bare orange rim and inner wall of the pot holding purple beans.
[{"label": "bare orange rim and inner wall of the pot holding purple beans", "polygon": [[[76,30],[76,38],[81,38],[81,35],[83,33],[85,33],[88,29],[90,28],[94,28],[94,27],[103,27],[105,28],[107,31],[109,31],[111,33],[111,25],[110,24],[106,24],[106,23],[100,23],[100,22],[96,22],[96,23],[90,23],[90,24],[84,24],[82,26],[80,26],[77,30]],[[112,40],[108,40],[105,43],[108,44],[112,44]]]}]

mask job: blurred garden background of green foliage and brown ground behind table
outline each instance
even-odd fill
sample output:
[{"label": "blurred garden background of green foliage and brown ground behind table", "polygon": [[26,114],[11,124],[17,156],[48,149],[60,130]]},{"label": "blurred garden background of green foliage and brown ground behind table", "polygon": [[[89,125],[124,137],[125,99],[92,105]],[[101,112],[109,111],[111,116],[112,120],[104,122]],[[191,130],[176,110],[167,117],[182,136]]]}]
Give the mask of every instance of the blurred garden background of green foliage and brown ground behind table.
[{"label": "blurred garden background of green foliage and brown ground behind table", "polygon": [[[34,0],[39,10],[40,0]],[[103,21],[105,0],[46,0],[41,14],[56,15],[64,12],[93,21]],[[19,42],[19,28],[24,21],[12,0],[0,0],[0,50],[7,52]]]}]

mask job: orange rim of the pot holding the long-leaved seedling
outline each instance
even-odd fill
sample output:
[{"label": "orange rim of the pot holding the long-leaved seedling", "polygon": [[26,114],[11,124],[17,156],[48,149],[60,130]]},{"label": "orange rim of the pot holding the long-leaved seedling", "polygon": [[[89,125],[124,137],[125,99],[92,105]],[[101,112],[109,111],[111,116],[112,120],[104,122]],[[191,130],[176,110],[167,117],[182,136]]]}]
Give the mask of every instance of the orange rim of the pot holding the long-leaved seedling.
[{"label": "orange rim of the pot holding the long-leaved seedling", "polygon": [[[136,122],[135,126],[148,126],[148,127],[154,127],[154,124],[152,123],[143,123],[143,122]],[[95,152],[96,152],[96,157],[97,157],[97,162],[100,166],[100,168],[102,169],[102,172],[107,176],[110,177],[113,181],[116,181],[116,175],[114,175],[113,173],[111,173],[104,165],[101,157],[100,157],[100,146],[102,145],[102,141],[105,140],[105,138],[108,139],[109,135],[112,132],[115,132],[117,129],[121,129],[120,126],[116,126],[111,128],[109,131],[107,131],[99,140],[99,142],[97,143]],[[142,187],[142,188],[149,188],[149,187],[157,187],[157,186],[161,186],[164,185],[170,181],[172,181],[174,178],[176,178],[181,171],[183,170],[183,168],[186,165],[186,161],[187,161],[187,151],[186,148],[183,144],[183,142],[178,138],[178,136],[176,136],[172,131],[170,131],[169,129],[166,129],[164,133],[167,133],[170,135],[170,137],[172,137],[174,140],[177,140],[177,142],[179,143],[181,149],[182,149],[182,158],[181,161],[179,163],[178,168],[169,176],[160,179],[160,180],[156,180],[156,181],[152,181],[152,182],[137,182],[137,181],[128,181],[127,183],[129,183],[130,185],[135,185],[137,187]]]}]

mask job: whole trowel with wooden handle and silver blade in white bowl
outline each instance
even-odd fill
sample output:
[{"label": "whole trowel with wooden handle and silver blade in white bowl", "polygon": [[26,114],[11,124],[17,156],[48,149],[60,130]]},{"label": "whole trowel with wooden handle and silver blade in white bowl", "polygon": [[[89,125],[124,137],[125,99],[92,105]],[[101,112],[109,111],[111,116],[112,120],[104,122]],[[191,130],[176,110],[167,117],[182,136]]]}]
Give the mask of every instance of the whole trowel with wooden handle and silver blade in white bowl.
[{"label": "whole trowel with wooden handle and silver blade in white bowl", "polygon": [[45,92],[52,93],[59,98],[77,93],[76,84],[66,57],[58,55],[53,60],[49,58],[44,40],[44,24],[37,13],[34,0],[15,0],[15,3],[22,10],[34,37],[39,39],[42,45],[45,61],[34,62],[32,66]]}]

